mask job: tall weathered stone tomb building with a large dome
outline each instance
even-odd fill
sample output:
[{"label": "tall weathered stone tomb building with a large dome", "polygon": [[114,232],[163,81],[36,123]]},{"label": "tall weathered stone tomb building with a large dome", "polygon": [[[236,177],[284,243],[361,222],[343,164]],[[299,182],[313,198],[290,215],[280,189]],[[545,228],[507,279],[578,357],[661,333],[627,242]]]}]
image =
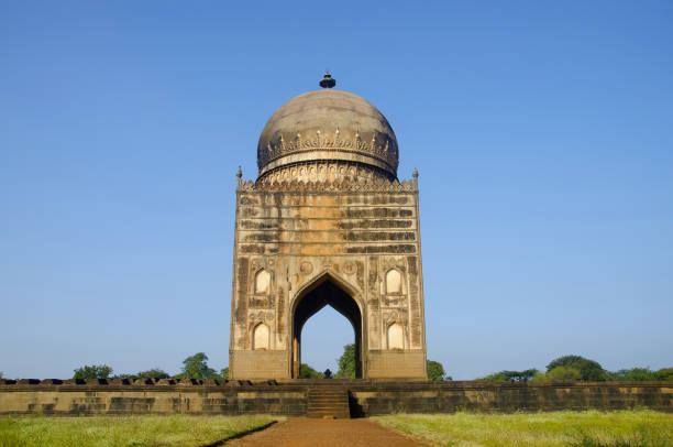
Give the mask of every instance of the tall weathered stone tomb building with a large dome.
[{"label": "tall weathered stone tomb building with a large dome", "polygon": [[295,379],[301,329],[330,305],[356,377],[426,380],[418,174],[397,179],[386,118],[363,98],[299,95],[268,120],[236,187],[230,379]]}]

